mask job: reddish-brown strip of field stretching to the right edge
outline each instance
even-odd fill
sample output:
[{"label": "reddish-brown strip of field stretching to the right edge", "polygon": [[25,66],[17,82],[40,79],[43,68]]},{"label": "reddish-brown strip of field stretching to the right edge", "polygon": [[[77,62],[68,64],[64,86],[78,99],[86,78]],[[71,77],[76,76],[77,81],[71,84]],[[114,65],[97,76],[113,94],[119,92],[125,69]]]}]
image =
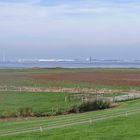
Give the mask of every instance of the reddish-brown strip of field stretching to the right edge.
[{"label": "reddish-brown strip of field stretching to the right edge", "polygon": [[111,86],[140,86],[140,72],[75,72],[59,74],[34,74],[35,80],[90,83]]}]

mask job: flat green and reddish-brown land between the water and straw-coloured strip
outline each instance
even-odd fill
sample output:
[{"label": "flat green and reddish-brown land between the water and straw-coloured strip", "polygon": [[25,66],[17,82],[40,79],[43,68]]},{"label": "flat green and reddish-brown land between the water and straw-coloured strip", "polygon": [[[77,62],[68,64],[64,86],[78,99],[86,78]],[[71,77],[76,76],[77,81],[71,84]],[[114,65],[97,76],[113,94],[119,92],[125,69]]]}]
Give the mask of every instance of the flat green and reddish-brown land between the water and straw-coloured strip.
[{"label": "flat green and reddish-brown land between the water and straw-coloured strip", "polygon": [[0,70],[0,86],[139,89],[139,69]]}]

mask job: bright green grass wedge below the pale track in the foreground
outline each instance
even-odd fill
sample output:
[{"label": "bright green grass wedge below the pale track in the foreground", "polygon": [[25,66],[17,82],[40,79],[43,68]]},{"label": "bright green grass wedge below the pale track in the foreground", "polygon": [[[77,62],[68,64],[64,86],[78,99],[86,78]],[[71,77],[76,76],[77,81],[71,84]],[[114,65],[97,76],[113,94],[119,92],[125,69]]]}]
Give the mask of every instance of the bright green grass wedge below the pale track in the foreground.
[{"label": "bright green grass wedge below the pale track in the foreground", "polygon": [[[140,114],[94,124],[66,127],[26,135],[10,136],[1,140],[139,140]],[[138,122],[138,123],[137,123]]]}]

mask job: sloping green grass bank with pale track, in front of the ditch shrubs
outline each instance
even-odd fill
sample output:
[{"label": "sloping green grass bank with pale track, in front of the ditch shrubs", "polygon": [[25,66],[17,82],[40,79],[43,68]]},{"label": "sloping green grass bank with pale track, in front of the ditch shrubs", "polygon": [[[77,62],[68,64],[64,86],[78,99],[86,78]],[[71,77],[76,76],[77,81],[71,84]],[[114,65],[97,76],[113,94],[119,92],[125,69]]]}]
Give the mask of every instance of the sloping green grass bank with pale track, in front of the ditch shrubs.
[{"label": "sloping green grass bank with pale track, in front of the ditch shrubs", "polygon": [[[0,136],[8,132],[19,134],[1,136],[1,140],[139,140],[140,139],[140,100],[121,103],[118,108],[88,112],[77,115],[40,118],[33,120],[9,121],[0,123]],[[127,115],[126,115],[127,113]],[[122,115],[116,115],[122,114]],[[114,116],[114,117],[113,117]],[[99,119],[101,118],[101,119]],[[90,120],[92,119],[92,122]],[[76,124],[77,122],[84,122]],[[73,124],[68,126],[67,124]],[[42,126],[43,132],[38,132]],[[57,129],[52,126],[62,126]],[[30,129],[29,129],[30,128]],[[37,129],[38,128],[38,129]],[[48,128],[48,129],[45,129]],[[34,130],[22,134],[24,130]]]}]

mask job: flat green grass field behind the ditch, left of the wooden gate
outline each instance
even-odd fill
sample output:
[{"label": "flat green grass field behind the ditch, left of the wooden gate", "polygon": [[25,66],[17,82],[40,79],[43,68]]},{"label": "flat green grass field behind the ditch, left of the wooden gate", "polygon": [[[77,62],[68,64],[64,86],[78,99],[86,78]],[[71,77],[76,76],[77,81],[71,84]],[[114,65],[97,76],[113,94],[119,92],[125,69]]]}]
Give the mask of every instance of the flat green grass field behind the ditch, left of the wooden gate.
[{"label": "flat green grass field behind the ditch, left of the wooden gate", "polygon": [[35,114],[66,111],[80,101],[69,101],[70,93],[0,92],[0,116],[16,113],[21,108],[32,108]]}]

